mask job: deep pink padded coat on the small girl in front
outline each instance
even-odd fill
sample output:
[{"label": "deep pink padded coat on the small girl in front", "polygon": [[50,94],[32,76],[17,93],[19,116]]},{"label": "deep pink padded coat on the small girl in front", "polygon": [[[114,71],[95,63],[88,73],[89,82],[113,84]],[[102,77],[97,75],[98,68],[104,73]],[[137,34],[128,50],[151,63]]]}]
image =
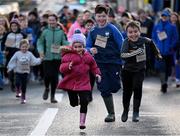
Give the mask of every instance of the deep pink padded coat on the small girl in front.
[{"label": "deep pink padded coat on the small girl in front", "polygon": [[[66,47],[70,50],[62,51],[62,62],[60,72],[63,79],[59,82],[58,88],[72,91],[90,91],[89,72],[94,75],[101,74],[94,58],[87,51],[83,51],[80,56],[72,47]],[[69,63],[72,62],[72,68],[69,69]]]}]

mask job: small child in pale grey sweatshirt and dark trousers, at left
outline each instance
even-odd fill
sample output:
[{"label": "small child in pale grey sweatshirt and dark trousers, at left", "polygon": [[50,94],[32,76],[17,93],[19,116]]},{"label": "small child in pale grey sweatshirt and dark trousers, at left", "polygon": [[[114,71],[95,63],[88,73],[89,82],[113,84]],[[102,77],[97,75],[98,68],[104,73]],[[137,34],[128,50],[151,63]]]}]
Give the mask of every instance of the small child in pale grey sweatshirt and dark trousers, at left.
[{"label": "small child in pale grey sweatshirt and dark trousers, at left", "polygon": [[[16,73],[16,97],[21,96],[21,104],[26,103],[26,87],[30,66],[39,65],[41,58],[36,58],[29,49],[29,42],[22,39],[20,42],[20,51],[17,51],[10,59],[7,68],[8,72],[14,70]],[[22,94],[21,94],[22,93]]]}]

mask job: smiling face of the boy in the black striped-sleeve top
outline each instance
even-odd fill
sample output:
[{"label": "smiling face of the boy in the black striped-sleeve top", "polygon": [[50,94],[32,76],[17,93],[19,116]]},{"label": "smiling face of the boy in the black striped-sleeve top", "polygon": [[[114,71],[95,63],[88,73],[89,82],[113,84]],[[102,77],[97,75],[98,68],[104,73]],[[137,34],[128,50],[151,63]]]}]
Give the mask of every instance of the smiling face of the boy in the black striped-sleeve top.
[{"label": "smiling face of the boy in the black striped-sleeve top", "polygon": [[138,38],[140,37],[140,31],[137,27],[131,27],[129,26],[127,28],[127,36],[129,38],[129,40],[136,42],[138,40]]}]

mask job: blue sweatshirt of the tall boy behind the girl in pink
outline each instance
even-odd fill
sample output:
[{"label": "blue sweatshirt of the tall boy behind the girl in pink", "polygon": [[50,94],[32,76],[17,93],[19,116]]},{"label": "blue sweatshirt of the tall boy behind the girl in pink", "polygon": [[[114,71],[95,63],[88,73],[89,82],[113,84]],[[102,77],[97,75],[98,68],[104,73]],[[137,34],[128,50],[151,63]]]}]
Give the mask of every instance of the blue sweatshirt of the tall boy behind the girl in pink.
[{"label": "blue sweatshirt of the tall boy behind the girl in pink", "polygon": [[[105,48],[95,45],[97,36],[107,38]],[[97,63],[121,64],[120,51],[124,41],[122,34],[112,24],[107,24],[103,28],[94,27],[88,34],[86,48],[97,48],[98,53],[94,58]]]}]

